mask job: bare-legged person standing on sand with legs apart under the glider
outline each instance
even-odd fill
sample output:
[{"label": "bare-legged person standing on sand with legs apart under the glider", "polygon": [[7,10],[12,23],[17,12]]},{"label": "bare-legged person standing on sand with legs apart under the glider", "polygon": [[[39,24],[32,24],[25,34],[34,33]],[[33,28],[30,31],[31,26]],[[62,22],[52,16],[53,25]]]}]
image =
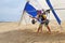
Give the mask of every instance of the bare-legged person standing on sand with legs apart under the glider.
[{"label": "bare-legged person standing on sand with legs apart under the glider", "polygon": [[40,25],[38,27],[37,32],[42,32],[42,26],[46,25],[46,27],[48,28],[49,32],[51,33],[50,27],[49,27],[49,19],[47,19],[47,14],[46,13],[50,13],[50,10],[42,10],[43,13],[40,13],[38,11],[38,15],[37,15],[37,19],[40,22]]}]

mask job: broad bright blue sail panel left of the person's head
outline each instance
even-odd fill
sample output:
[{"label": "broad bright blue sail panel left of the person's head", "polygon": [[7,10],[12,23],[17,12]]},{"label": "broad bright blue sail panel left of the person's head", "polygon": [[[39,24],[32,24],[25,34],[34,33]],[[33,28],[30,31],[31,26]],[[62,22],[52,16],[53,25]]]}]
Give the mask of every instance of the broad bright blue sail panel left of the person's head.
[{"label": "broad bright blue sail panel left of the person's head", "polygon": [[29,2],[26,3],[24,11],[26,11],[32,17],[37,16],[37,10],[31,4],[29,4]]}]

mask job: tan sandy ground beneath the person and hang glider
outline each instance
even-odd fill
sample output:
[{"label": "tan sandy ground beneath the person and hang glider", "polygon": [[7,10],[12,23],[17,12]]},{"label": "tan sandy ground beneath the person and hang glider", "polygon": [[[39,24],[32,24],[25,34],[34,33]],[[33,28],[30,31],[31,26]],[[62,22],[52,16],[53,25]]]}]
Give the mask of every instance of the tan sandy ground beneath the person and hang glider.
[{"label": "tan sandy ground beneath the person and hang glider", "polygon": [[21,25],[18,23],[0,23],[0,43],[65,43],[65,22],[62,28],[56,23],[50,23],[52,33],[37,33],[38,24]]}]

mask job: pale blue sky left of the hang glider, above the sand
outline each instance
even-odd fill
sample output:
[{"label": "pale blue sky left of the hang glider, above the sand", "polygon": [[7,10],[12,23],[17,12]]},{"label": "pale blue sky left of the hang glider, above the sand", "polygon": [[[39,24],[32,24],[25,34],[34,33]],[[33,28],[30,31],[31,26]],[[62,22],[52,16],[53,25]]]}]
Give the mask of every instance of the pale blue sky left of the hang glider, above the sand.
[{"label": "pale blue sky left of the hang glider, above the sand", "polygon": [[26,0],[0,0],[0,22],[17,22]]}]

